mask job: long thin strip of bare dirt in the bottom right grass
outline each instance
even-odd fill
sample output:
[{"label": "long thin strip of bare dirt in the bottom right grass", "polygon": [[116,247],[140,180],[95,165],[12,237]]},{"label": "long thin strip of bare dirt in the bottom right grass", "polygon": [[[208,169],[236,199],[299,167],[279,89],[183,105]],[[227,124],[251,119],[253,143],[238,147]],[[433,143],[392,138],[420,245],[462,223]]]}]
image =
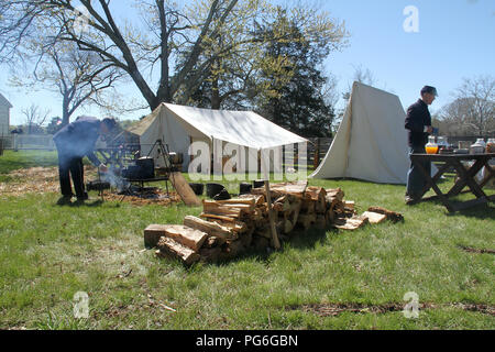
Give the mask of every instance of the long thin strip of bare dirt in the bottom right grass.
[{"label": "long thin strip of bare dirt in the bottom right grass", "polygon": [[[316,314],[320,317],[337,317],[343,312],[354,314],[386,314],[392,311],[403,311],[404,302],[391,302],[384,305],[360,305],[360,304],[314,304],[290,306],[287,310],[302,310],[304,312]],[[430,302],[419,304],[418,309],[458,308],[469,311],[476,311],[495,316],[495,307],[483,304],[446,304],[435,305]]]}]

